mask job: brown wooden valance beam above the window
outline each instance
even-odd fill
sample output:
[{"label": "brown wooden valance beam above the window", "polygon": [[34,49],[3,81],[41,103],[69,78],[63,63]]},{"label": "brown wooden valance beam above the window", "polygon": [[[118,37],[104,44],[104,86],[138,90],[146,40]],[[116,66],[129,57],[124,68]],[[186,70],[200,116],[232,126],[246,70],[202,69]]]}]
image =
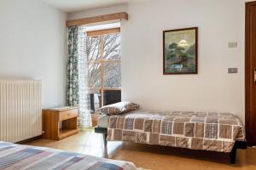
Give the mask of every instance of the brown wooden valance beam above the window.
[{"label": "brown wooden valance beam above the window", "polygon": [[67,20],[66,26],[67,27],[81,26],[81,25],[111,21],[111,20],[128,20],[128,14],[125,12],[122,12],[122,13],[116,13],[116,14],[105,14],[105,15],[84,18],[79,20]]}]

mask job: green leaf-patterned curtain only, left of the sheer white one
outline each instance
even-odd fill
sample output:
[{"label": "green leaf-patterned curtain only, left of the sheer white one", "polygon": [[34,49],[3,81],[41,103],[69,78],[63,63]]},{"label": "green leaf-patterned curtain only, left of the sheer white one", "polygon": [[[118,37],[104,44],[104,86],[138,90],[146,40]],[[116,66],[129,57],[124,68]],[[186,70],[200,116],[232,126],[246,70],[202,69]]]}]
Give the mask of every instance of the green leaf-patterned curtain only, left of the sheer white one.
[{"label": "green leaf-patterned curtain only, left of the sheer white one", "polygon": [[78,26],[67,28],[68,63],[67,63],[67,105],[79,105],[79,53]]}]

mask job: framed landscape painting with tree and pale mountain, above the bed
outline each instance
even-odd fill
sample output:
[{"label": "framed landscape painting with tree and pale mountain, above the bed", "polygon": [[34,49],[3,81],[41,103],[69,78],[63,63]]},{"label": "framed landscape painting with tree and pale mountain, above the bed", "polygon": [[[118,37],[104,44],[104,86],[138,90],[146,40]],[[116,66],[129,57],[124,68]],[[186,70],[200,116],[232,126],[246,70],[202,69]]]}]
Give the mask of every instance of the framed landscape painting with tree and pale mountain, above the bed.
[{"label": "framed landscape painting with tree and pale mountain, above the bed", "polygon": [[198,28],[168,30],[164,36],[164,75],[197,74]]}]

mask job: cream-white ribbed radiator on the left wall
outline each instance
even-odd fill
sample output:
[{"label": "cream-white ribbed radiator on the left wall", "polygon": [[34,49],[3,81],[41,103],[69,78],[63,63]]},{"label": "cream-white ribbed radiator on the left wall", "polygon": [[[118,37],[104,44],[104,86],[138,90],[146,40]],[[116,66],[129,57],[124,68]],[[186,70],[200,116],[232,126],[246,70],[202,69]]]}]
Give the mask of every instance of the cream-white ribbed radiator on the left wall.
[{"label": "cream-white ribbed radiator on the left wall", "polygon": [[19,142],[42,134],[40,81],[0,80],[0,140]]}]

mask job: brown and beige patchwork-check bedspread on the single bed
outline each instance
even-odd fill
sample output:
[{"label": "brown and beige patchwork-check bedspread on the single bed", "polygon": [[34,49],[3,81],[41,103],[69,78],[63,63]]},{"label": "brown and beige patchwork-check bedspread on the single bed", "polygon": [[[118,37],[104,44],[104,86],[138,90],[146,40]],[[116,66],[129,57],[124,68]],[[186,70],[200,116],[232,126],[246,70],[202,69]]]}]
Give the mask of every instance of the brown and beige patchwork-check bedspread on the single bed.
[{"label": "brown and beige patchwork-check bedspread on the single bed", "polygon": [[132,111],[109,117],[107,139],[230,152],[245,133],[230,113]]}]

